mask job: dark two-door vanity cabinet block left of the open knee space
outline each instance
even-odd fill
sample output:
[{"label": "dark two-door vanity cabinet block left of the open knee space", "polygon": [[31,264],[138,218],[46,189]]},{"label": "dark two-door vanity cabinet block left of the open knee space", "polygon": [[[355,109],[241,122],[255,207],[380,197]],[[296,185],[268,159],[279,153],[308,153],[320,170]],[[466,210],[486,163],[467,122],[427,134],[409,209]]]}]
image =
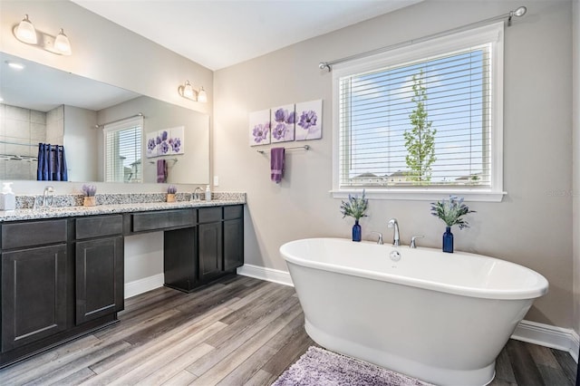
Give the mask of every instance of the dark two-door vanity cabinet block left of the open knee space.
[{"label": "dark two-door vanity cabinet block left of the open knee space", "polygon": [[0,367],[114,323],[122,215],[2,224]]}]

